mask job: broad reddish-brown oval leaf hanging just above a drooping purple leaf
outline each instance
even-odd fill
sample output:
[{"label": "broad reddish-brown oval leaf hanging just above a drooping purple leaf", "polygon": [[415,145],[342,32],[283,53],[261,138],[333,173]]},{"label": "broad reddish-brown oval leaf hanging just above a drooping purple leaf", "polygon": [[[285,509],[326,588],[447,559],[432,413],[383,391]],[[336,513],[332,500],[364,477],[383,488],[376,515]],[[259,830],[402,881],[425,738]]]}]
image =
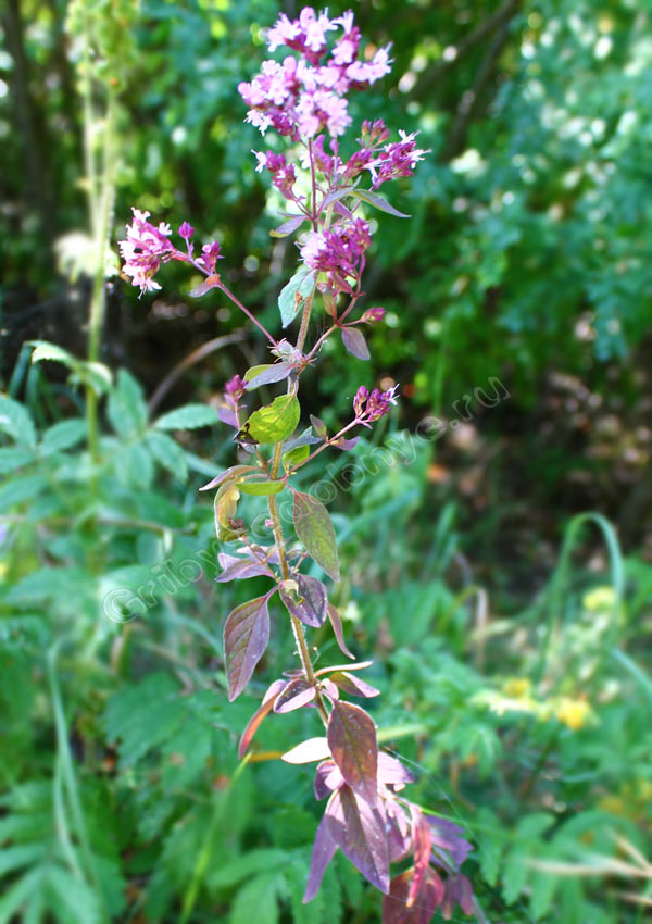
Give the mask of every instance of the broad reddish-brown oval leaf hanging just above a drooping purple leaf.
[{"label": "broad reddish-brown oval leaf hanging just above a drooping purple leaf", "polygon": [[371,715],[351,702],[334,702],[328,720],[333,759],[353,791],[375,806],[378,801],[378,745]]}]

